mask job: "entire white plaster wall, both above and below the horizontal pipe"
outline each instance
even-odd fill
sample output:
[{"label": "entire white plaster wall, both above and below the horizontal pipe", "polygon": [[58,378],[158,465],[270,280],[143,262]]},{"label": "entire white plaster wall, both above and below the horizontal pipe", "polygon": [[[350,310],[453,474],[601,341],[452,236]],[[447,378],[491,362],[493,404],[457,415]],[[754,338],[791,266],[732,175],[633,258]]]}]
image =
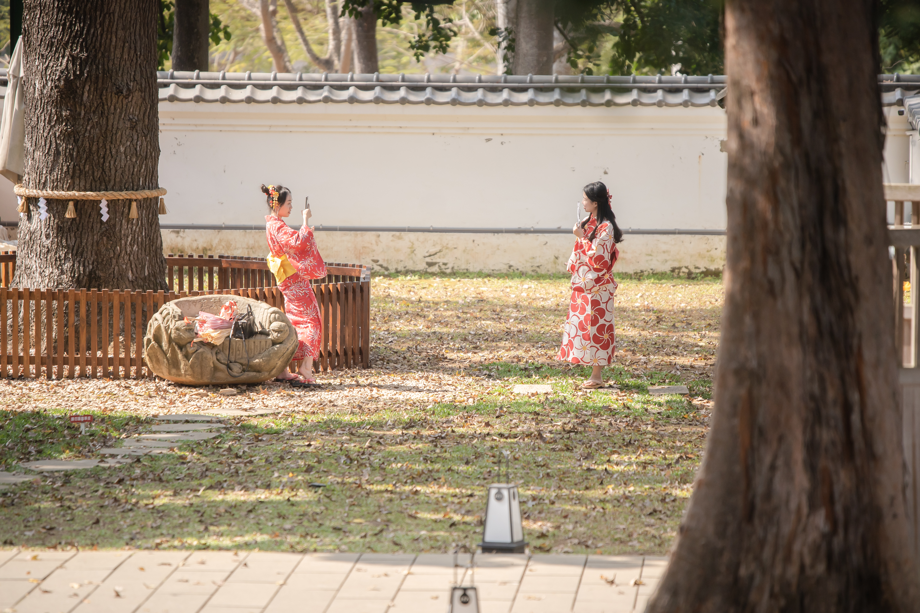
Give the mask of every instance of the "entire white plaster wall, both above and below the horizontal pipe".
[{"label": "entire white plaster wall, both above and below the horizontal pipe", "polygon": [[[916,182],[911,160],[920,165],[920,154],[911,151],[920,144],[897,110],[885,109],[883,176]],[[292,187],[298,208],[309,195],[314,224],[568,228],[581,186],[600,179],[624,228],[725,227],[720,108],[162,102],[159,112],[165,224],[261,224],[265,182]],[[15,219],[12,186],[0,177],[0,220]],[[571,247],[565,234],[319,232],[317,240],[329,261],[393,270],[560,271]],[[245,231],[164,231],[164,243],[167,253],[267,248],[264,233]],[[724,261],[721,237],[634,234],[621,246],[625,272]]]}]

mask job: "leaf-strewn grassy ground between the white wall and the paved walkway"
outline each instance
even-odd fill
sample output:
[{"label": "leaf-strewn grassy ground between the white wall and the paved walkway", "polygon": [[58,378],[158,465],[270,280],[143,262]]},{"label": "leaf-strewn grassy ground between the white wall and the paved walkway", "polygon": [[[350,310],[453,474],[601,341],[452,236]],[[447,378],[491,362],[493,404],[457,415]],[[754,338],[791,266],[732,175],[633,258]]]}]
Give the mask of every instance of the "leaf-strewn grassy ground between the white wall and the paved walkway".
[{"label": "leaf-strewn grassy ground between the white wall and the paved walkway", "polygon": [[[481,539],[503,452],[534,551],[661,554],[701,460],[719,341],[719,278],[621,278],[617,390],[555,360],[561,276],[377,276],[371,368],[324,387],[0,380],[0,471],[97,458],[158,414],[270,409],[118,468],[44,472],[0,492],[4,545],[449,551]],[[518,383],[549,394],[513,394]],[[690,396],[655,396],[684,384]],[[68,414],[93,414],[81,436]]]}]

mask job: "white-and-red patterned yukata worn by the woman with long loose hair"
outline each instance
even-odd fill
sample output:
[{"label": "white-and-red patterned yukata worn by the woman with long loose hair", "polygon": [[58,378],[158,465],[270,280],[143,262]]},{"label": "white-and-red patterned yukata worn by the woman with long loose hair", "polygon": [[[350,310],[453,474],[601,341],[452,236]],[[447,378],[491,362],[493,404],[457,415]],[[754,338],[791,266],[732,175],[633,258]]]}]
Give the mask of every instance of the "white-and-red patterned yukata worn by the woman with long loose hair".
[{"label": "white-and-red patterned yukata worn by the woman with long loose hair", "polygon": [[597,229],[593,242],[588,240],[596,225],[592,215],[584,227],[584,238],[576,239],[569,257],[572,296],[556,358],[574,364],[610,366],[616,353],[613,268],[620,253],[609,221]]}]

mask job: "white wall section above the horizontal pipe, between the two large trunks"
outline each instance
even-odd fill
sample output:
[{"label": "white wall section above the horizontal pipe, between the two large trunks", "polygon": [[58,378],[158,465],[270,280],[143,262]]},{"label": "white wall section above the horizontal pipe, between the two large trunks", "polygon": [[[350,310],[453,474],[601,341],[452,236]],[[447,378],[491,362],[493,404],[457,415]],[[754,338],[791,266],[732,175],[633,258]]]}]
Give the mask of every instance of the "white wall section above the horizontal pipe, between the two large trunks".
[{"label": "white wall section above the horizontal pipe, between the two large trunks", "polygon": [[725,227],[721,108],[160,103],[164,223],[263,223],[259,184],[313,223],[570,227],[603,180],[635,228]]}]

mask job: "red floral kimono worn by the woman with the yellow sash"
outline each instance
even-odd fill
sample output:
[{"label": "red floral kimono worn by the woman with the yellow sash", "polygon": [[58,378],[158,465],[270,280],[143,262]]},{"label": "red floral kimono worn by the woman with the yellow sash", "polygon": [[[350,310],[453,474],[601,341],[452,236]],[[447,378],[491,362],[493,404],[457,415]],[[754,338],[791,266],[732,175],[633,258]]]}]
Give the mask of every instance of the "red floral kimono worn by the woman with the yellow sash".
[{"label": "red floral kimono worn by the woman with the yellow sash", "polygon": [[274,215],[266,215],[265,235],[271,255],[287,255],[296,270],[278,284],[284,294],[284,313],[297,329],[297,338],[300,340],[293,359],[304,359],[307,356],[319,358],[323,323],[319,318],[319,305],[310,287],[310,279],[326,277],[326,263],[316,248],[313,228],[304,224],[298,232]]}]

